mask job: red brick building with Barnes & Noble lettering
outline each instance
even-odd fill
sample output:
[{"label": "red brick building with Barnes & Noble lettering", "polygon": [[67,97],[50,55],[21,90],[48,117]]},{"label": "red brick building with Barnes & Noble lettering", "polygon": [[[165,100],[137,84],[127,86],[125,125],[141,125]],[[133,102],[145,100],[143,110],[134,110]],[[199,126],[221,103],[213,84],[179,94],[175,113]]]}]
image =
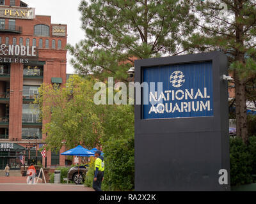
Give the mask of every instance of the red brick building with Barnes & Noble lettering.
[{"label": "red brick building with Barnes & Noble lettering", "polygon": [[[0,45],[0,169],[7,163],[20,168],[22,155],[27,164],[28,159],[44,164],[38,144],[47,121],[40,122],[38,106],[29,103],[43,82],[66,82],[67,25],[35,15],[35,8],[20,0],[0,0]],[[65,156],[46,156],[47,166],[65,165]]]}]

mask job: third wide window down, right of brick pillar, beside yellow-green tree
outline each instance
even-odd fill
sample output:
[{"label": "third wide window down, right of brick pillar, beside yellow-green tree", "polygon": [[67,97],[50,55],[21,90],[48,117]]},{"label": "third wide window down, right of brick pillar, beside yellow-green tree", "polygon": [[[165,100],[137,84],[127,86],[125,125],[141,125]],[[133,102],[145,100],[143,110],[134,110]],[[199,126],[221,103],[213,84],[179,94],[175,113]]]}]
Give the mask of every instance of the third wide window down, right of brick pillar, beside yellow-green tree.
[{"label": "third wide window down, right of brick pillar, beside yellow-green tree", "polygon": [[40,110],[38,105],[22,105],[22,122],[36,123],[40,122]]}]

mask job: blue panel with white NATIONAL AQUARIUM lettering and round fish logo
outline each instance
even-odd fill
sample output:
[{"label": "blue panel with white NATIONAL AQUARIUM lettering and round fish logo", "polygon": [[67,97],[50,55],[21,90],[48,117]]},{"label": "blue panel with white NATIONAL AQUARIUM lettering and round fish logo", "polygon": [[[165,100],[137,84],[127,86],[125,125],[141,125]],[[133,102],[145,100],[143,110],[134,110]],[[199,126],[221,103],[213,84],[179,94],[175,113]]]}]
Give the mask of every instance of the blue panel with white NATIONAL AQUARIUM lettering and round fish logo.
[{"label": "blue panel with white NATIONAL AQUARIUM lettering and round fish logo", "polygon": [[143,119],[213,115],[212,62],[143,68]]}]

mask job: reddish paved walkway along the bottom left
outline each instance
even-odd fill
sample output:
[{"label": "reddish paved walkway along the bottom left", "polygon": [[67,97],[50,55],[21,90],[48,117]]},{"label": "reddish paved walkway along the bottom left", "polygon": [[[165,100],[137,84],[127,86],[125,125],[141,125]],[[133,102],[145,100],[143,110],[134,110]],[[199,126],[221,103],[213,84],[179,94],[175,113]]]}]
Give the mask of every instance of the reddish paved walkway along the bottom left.
[{"label": "reddish paved walkway along the bottom left", "polygon": [[94,191],[90,187],[76,184],[27,184],[27,177],[0,177],[0,191]]}]

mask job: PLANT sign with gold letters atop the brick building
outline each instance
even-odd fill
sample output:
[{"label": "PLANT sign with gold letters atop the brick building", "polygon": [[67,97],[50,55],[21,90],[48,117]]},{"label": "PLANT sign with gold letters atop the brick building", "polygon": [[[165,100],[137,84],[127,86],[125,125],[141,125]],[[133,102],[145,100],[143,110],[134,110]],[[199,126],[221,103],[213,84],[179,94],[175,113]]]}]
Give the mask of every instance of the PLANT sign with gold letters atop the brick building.
[{"label": "PLANT sign with gold letters atop the brick building", "polygon": [[33,20],[35,8],[18,8],[18,7],[0,7],[0,18],[16,18]]}]

